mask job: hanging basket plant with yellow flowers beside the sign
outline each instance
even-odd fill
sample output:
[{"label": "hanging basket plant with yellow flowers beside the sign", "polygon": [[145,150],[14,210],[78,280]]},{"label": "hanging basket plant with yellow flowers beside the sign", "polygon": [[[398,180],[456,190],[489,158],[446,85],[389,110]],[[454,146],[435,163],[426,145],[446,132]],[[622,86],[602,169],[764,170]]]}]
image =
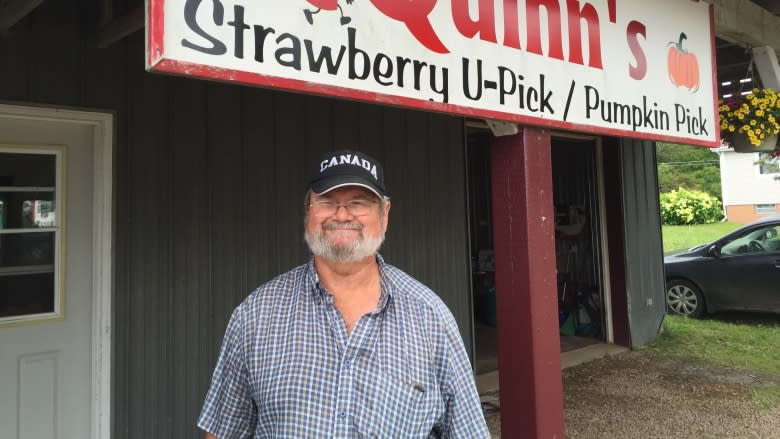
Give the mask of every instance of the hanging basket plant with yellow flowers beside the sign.
[{"label": "hanging basket plant with yellow flowers beside the sign", "polygon": [[735,133],[748,137],[754,146],[780,132],[780,96],[771,88],[754,88],[747,96],[721,100],[720,136],[731,142]]}]

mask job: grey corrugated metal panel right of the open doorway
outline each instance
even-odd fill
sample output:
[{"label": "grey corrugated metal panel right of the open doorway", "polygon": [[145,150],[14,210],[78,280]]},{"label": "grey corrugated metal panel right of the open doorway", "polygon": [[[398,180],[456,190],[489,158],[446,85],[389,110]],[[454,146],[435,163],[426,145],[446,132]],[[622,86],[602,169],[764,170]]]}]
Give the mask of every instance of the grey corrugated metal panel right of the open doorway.
[{"label": "grey corrugated metal panel right of the open doorway", "polygon": [[655,143],[622,139],[626,290],[631,345],[652,341],[666,304]]}]

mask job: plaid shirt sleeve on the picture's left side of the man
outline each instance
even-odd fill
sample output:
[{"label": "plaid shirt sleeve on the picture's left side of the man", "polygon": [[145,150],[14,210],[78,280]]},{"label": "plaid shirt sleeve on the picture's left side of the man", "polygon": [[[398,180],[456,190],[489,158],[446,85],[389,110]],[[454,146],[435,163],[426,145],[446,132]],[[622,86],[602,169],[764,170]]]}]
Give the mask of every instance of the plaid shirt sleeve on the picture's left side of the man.
[{"label": "plaid shirt sleeve on the picture's left side of the man", "polygon": [[219,439],[251,438],[257,425],[257,409],[243,357],[243,333],[239,307],[230,317],[198,419],[198,427]]}]

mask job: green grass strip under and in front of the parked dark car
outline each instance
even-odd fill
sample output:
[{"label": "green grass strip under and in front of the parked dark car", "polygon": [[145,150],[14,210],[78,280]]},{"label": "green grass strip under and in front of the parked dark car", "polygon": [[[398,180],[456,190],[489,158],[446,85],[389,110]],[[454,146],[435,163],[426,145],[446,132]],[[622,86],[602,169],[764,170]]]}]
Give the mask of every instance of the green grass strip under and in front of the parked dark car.
[{"label": "green grass strip under and in front of the parked dark car", "polygon": [[[780,375],[780,316],[726,314],[719,320],[667,315],[663,333],[644,349],[701,365]],[[780,386],[757,389],[754,398],[780,405]]]}]

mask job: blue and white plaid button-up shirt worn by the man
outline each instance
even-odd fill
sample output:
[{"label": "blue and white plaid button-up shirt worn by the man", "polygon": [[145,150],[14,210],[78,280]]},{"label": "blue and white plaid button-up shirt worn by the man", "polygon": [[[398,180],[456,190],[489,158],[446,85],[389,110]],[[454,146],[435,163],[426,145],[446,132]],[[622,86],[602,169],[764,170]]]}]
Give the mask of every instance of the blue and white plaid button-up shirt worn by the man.
[{"label": "blue and white plaid button-up shirt worn by the man", "polygon": [[489,438],[463,341],[430,289],[377,256],[347,334],[313,261],[233,312],[198,426],[233,438]]}]

